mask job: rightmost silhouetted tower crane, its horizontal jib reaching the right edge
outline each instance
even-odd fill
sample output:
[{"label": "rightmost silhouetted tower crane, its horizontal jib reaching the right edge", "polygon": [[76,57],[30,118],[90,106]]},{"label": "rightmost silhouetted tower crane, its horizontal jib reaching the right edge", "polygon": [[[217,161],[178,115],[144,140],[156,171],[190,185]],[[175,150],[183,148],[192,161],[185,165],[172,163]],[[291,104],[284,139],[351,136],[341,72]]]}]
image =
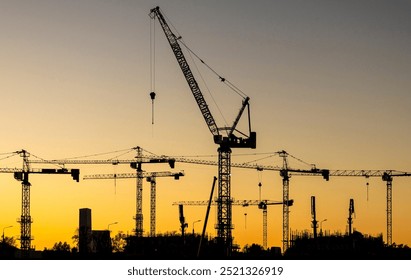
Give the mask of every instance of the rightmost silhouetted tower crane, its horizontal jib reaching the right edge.
[{"label": "rightmost silhouetted tower crane, its horizontal jib reaching the right edge", "polygon": [[[300,174],[298,174],[300,175]],[[310,175],[318,175],[312,173]],[[411,172],[397,170],[330,170],[328,176],[380,177],[387,185],[387,245],[392,245],[392,180],[393,177],[411,176]]]}]

